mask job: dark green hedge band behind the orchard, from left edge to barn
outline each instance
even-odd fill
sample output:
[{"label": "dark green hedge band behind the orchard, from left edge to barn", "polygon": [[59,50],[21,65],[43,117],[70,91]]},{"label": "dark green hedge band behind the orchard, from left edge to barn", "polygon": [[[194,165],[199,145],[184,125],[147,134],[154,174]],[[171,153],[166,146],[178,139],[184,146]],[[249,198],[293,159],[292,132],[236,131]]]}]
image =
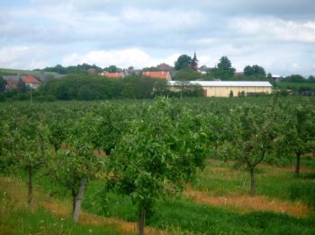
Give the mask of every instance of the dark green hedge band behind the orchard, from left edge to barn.
[{"label": "dark green hedge band behind the orchard, from left edge to barn", "polygon": [[96,74],[69,74],[60,79],[44,81],[38,91],[30,89],[23,81],[15,90],[0,90],[0,101],[4,100],[112,100],[152,99],[157,95],[168,97],[201,97],[200,86],[184,83],[181,91],[170,91],[166,81],[141,76],[111,79]]}]

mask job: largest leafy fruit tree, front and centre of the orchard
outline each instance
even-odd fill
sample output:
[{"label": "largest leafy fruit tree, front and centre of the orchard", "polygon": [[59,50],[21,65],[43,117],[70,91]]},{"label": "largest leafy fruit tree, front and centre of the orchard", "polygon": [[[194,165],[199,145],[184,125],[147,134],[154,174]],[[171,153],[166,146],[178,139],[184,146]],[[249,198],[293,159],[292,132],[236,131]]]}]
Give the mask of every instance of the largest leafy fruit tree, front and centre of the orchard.
[{"label": "largest leafy fruit tree, front and centre of the orchard", "polygon": [[204,166],[202,129],[192,111],[166,99],[144,107],[108,159],[105,190],[128,195],[139,208],[139,234],[160,198],[175,194]]}]

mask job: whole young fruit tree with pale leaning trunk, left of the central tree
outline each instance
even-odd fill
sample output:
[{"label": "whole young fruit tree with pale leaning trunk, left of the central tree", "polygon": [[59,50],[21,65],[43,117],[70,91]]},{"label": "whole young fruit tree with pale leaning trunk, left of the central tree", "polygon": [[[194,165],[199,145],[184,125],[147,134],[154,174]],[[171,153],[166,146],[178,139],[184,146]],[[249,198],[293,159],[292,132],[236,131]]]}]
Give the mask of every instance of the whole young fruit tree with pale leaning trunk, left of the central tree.
[{"label": "whole young fruit tree with pale leaning trunk, left of the central tree", "polygon": [[67,147],[61,148],[49,161],[49,175],[72,195],[73,221],[78,222],[85,187],[89,179],[101,170],[103,159],[94,154],[95,117],[91,114],[78,118],[69,126]]}]

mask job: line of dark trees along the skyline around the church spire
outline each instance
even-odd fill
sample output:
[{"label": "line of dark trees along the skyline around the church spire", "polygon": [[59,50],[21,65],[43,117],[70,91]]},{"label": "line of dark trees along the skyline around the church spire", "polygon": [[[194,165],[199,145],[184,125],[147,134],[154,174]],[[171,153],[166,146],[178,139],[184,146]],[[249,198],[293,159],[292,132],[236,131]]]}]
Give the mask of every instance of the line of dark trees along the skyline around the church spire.
[{"label": "line of dark trees along the skyline around the church spire", "polygon": [[[220,57],[220,60],[217,65],[211,68],[205,67],[203,72],[207,72],[206,75],[194,73],[198,68],[198,60],[194,56],[193,58],[187,55],[181,55],[175,61],[175,66],[169,66],[166,64],[163,67],[166,68],[166,71],[175,70],[182,71],[183,74],[178,74],[175,77],[175,80],[179,81],[189,81],[189,80],[213,80],[213,79],[221,79],[221,80],[252,80],[252,81],[272,81],[272,74],[266,74],[266,70],[264,67],[260,65],[247,65],[244,67],[242,74],[235,74],[236,69],[232,66],[228,57]],[[203,66],[202,66],[203,67]],[[102,72],[122,72],[124,69],[117,67],[116,65],[110,65],[104,68],[101,68],[97,65],[72,65],[64,67],[62,65],[56,65],[53,67],[46,67],[42,70],[37,69],[38,71],[44,72],[55,72],[58,74],[86,74],[89,69],[94,69],[95,73]],[[133,70],[133,66],[130,66],[128,70]],[[160,65],[143,68],[142,71],[160,71]],[[162,69],[163,70],[163,69]],[[198,76],[197,76],[198,74]],[[190,78],[189,78],[190,77]],[[284,82],[290,83],[315,83],[314,75],[310,75],[308,78],[303,77],[301,74],[292,74],[284,78]]]}]

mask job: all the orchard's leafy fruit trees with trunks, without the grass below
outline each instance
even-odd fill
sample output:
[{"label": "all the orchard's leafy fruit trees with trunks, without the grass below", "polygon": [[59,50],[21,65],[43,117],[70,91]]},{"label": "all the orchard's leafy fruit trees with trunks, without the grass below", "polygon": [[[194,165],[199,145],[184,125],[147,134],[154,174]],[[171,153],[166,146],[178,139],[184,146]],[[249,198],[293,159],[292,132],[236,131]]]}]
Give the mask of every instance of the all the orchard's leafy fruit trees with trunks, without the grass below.
[{"label": "all the orchard's leafy fruit trees with trunks, without the grass below", "polygon": [[3,106],[0,114],[0,170],[27,172],[30,205],[33,175],[41,172],[67,189],[77,222],[85,187],[101,174],[100,190],[139,206],[140,234],[152,205],[180,192],[206,157],[245,165],[254,196],[259,163],[294,153],[299,177],[302,155],[315,151],[310,100],[24,103]]}]

